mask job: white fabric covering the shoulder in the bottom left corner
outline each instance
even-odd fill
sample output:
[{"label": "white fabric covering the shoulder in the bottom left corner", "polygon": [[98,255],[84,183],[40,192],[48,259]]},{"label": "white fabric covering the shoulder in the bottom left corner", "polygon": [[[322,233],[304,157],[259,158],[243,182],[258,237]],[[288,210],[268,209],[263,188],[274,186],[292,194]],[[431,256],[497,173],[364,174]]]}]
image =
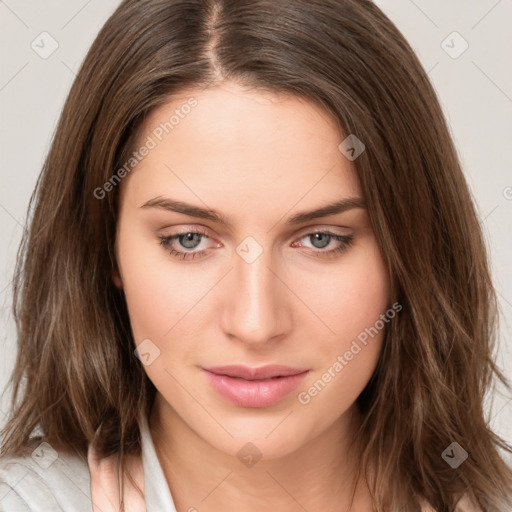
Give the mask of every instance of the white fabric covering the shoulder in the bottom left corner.
[{"label": "white fabric covering the shoulder in the bottom left corner", "polygon": [[38,440],[24,456],[0,457],[1,512],[90,512],[87,459]]}]

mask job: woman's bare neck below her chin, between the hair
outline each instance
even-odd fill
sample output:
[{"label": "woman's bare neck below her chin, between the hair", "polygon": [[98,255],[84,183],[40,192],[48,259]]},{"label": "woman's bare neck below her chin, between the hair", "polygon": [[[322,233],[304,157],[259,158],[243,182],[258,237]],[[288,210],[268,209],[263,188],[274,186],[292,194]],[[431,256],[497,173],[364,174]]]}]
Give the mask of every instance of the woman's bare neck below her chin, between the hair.
[{"label": "woman's bare neck below her chin, between the hair", "polygon": [[360,422],[355,407],[292,453],[251,466],[207,443],[159,398],[149,427],[178,511],[221,512],[231,503],[245,512],[371,512],[350,442]]}]

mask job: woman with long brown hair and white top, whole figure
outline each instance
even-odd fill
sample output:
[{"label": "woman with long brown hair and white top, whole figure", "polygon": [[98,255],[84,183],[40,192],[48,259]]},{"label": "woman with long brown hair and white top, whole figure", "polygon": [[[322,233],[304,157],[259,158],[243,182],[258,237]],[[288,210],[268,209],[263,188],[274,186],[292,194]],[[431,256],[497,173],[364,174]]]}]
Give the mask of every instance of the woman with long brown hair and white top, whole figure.
[{"label": "woman with long brown hair and white top, whole figure", "polygon": [[8,512],[509,510],[478,219],[371,2],[124,1],[33,206]]}]

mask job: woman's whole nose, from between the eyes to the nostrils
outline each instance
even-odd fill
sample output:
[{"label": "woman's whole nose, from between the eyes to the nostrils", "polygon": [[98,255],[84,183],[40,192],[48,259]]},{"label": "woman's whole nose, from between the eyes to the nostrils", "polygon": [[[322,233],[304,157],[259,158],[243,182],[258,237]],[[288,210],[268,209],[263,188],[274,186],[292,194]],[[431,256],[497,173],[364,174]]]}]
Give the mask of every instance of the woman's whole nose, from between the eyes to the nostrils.
[{"label": "woman's whole nose, from between the eyes to the nostrils", "polygon": [[222,329],[248,345],[276,341],[291,328],[291,292],[271,256],[264,250],[250,261],[234,254],[234,268],[227,276]]}]

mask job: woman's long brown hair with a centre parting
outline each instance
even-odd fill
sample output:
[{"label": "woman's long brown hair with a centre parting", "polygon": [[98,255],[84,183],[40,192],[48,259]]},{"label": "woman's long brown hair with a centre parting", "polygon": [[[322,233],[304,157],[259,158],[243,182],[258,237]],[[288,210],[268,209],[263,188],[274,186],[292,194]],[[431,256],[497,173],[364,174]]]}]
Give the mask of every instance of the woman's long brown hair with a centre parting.
[{"label": "woman's long brown hair with a centre parting", "polygon": [[[483,399],[496,379],[496,297],[472,198],[436,94],[369,0],[125,0],[71,88],[18,255],[19,352],[3,453],[40,425],[56,449],[140,452],[155,389],[112,282],[119,186],[145,115],[224,80],[321,105],[366,150],[354,161],[402,312],[358,398],[376,508],[512,507],[512,471]],[[341,142],[341,139],[340,139]],[[112,183],[112,182],[110,182]],[[122,185],[122,183],[121,183]],[[106,190],[106,187],[103,188]],[[96,193],[95,193],[96,191]],[[469,453],[452,468],[452,443]],[[370,471],[371,469],[371,471]]]}]

